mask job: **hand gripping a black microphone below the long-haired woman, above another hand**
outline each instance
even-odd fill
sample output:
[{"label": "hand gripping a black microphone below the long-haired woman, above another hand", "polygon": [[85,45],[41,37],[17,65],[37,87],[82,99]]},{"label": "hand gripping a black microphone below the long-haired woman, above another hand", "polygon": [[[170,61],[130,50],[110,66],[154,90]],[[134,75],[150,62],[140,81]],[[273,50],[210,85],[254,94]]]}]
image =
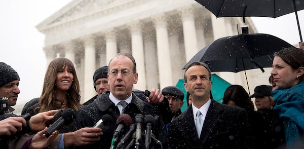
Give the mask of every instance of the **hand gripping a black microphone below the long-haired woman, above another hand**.
[{"label": "hand gripping a black microphone below the long-haired woman, above another hand", "polygon": [[49,110],[32,116],[29,120],[29,126],[34,131],[40,131],[46,127],[46,122],[54,118],[58,110]]}]

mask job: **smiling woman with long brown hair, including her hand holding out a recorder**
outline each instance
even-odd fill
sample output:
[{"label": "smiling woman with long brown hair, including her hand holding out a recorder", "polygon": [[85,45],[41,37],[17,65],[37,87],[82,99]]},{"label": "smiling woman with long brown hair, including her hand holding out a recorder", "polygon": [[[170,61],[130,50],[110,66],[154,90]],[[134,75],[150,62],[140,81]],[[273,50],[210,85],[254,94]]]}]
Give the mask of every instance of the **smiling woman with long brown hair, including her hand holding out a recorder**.
[{"label": "smiling woman with long brown hair, including her hand holding out a recorder", "polygon": [[[32,99],[32,106],[24,109],[30,115],[42,113],[52,109],[67,108],[78,111],[80,104],[80,87],[73,63],[63,57],[52,60],[45,74],[42,94]],[[24,107],[25,108],[25,107]],[[96,136],[101,135],[100,128],[82,128],[76,130],[74,123],[64,126],[59,130],[58,139],[55,139],[52,146],[67,147],[70,145],[85,145],[98,141]],[[76,130],[76,131],[75,131]]]}]

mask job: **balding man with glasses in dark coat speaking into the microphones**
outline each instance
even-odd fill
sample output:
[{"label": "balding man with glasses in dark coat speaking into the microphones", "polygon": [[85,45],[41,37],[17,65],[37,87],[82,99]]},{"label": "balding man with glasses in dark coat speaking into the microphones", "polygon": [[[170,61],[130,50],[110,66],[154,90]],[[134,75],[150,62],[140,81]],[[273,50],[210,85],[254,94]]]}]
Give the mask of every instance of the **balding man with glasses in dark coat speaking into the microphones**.
[{"label": "balding man with glasses in dark coat speaking into the microphones", "polygon": [[[133,123],[135,123],[137,114],[142,114],[144,117],[147,115],[156,117],[152,133],[164,144],[166,142],[165,126],[158,110],[132,93],[133,84],[136,84],[138,79],[136,62],[133,56],[128,53],[119,53],[110,60],[108,70],[107,80],[110,91],[102,93],[95,102],[82,107],[78,111],[75,120],[77,129],[80,129],[94,126],[104,115],[109,115],[113,118],[113,122],[109,124],[108,129],[102,130],[103,134],[99,136],[100,140],[88,146],[109,148],[112,144],[111,139],[115,130],[116,120],[122,114],[128,114]],[[148,101],[160,103],[163,99],[164,96],[160,90],[151,90]],[[121,101],[127,102],[127,105],[123,107],[120,104]],[[145,128],[146,125],[142,124],[143,131]],[[142,135],[142,138],[144,138],[144,135]],[[143,139],[141,140],[141,145],[143,145]]]}]

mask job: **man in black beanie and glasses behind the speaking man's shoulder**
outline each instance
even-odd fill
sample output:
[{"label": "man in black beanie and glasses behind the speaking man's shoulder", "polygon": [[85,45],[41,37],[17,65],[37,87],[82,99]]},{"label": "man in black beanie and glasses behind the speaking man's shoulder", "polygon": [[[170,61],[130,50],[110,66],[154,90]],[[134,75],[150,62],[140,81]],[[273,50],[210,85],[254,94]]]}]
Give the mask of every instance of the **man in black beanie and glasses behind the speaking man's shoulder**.
[{"label": "man in black beanie and glasses behind the speaking man's shoulder", "polygon": [[109,91],[110,86],[107,84],[108,66],[102,66],[95,70],[93,75],[93,85],[97,95],[84,103],[84,105],[94,102],[104,91]]}]

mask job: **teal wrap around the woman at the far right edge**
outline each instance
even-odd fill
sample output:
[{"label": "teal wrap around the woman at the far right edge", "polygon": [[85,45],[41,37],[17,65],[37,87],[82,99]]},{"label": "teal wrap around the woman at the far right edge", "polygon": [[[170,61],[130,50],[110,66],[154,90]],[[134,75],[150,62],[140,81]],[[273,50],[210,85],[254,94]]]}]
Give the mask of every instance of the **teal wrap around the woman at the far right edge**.
[{"label": "teal wrap around the woman at the far right edge", "polygon": [[288,89],[276,89],[272,94],[274,110],[284,120],[287,148],[292,148],[304,132],[304,81]]}]

